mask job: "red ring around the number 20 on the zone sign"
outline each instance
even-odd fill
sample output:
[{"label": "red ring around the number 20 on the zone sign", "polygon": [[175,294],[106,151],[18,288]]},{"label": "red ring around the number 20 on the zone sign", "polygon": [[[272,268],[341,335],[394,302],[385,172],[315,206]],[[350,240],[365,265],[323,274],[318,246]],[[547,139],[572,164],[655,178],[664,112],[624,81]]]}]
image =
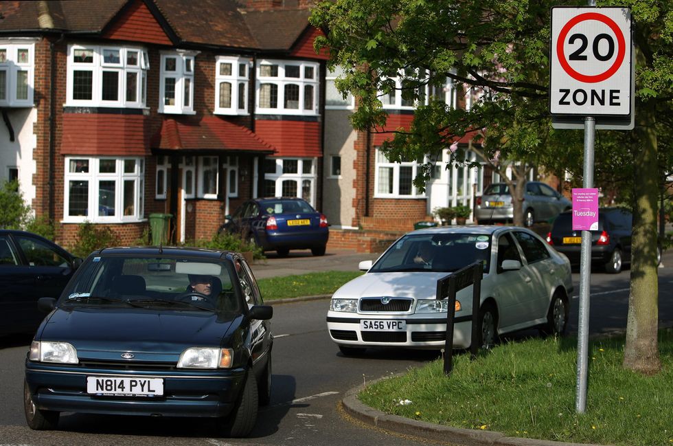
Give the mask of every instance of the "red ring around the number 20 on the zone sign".
[{"label": "red ring around the number 20 on the zone sign", "polygon": [[[603,71],[600,74],[595,74],[593,76],[589,76],[586,74],[579,73],[578,71],[575,71],[573,67],[570,66],[568,61],[565,58],[565,53],[563,51],[563,43],[565,41],[566,36],[570,32],[571,28],[575,25],[577,25],[580,22],[586,21],[586,20],[597,20],[602,23],[605,23],[610,27],[611,30],[615,33],[615,36],[617,37],[617,58],[615,59],[615,62],[613,65],[611,65],[610,68],[606,69],[606,71]],[[613,74],[621,67],[621,63],[624,62],[624,55],[626,54],[626,41],[624,41],[624,36],[621,34],[621,30],[619,29],[619,26],[617,26],[617,23],[613,21],[608,16],[604,16],[603,14],[599,14],[597,12],[585,12],[584,14],[580,14],[578,16],[574,16],[568,23],[565,24],[564,27],[561,29],[561,33],[558,36],[558,41],[556,41],[556,54],[558,55],[558,61],[561,64],[561,67],[563,67],[564,71],[571,76],[571,78],[575,80],[579,80],[580,82],[588,82],[588,83],[595,83],[595,82],[602,82]]]}]

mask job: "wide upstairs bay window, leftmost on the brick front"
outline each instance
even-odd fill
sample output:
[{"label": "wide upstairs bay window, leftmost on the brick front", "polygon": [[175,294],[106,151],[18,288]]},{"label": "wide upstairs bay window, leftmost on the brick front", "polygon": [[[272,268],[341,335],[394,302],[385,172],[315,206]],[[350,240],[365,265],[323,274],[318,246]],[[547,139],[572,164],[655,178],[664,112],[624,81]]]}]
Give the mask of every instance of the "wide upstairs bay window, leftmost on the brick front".
[{"label": "wide upstairs bay window, leftmost on the brick front", "polygon": [[67,65],[67,106],[146,107],[146,50],[70,45]]}]

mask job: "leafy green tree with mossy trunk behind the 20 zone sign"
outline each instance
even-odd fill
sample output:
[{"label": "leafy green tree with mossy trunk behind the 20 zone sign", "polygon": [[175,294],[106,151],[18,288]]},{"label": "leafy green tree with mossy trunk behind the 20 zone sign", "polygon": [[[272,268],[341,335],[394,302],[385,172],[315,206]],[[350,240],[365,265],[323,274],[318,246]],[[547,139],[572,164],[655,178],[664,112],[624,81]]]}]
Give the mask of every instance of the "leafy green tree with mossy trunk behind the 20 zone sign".
[{"label": "leafy green tree with mossy trunk behind the 20 zone sign", "polygon": [[[352,115],[356,129],[381,129],[387,115],[378,95],[395,88],[420,100],[425,85],[451,78],[465,89],[481,91],[470,110],[452,109],[437,100],[419,104],[410,129],[398,129],[383,146],[389,159],[437,159],[457,137],[481,132],[483,156],[545,166],[554,172],[581,166],[581,133],[551,129],[549,101],[550,8],[557,1],[527,0],[336,0],[319,3],[311,22],[330,49],[330,66],[345,68],[340,91],[358,98]],[[567,3],[564,3],[567,4]],[[586,5],[586,2],[576,2]],[[624,366],[659,370],[657,347],[657,135],[655,118],[670,115],[673,91],[673,12],[669,1],[625,0],[600,5],[632,10],[637,47],[637,129],[601,135],[630,174],[634,229],[631,291]],[[669,128],[670,130],[670,128]],[[619,143],[623,144],[620,145]],[[453,162],[461,161],[456,157]],[[580,163],[578,163],[580,161]],[[606,162],[596,169],[609,169]],[[420,169],[415,185],[424,186],[431,166]],[[636,181],[634,181],[634,179]]]}]

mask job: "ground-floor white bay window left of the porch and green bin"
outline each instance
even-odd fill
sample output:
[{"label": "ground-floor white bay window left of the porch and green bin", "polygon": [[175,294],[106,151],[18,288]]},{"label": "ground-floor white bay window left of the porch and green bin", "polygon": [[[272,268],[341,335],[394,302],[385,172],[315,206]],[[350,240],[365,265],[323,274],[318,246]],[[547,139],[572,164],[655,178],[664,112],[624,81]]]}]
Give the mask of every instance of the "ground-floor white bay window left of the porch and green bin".
[{"label": "ground-floor white bay window left of the porch and green bin", "polygon": [[143,213],[144,159],[65,159],[64,223],[140,221]]}]

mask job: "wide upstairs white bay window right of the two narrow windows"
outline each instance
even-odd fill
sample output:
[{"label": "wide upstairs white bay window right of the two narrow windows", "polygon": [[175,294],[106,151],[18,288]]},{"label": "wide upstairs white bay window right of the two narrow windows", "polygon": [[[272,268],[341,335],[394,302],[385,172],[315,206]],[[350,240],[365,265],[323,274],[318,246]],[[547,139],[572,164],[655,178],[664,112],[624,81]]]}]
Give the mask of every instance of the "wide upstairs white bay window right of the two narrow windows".
[{"label": "wide upstairs white bay window right of the two narrow windows", "polygon": [[[264,65],[277,65],[278,66],[278,76],[262,76],[262,66]],[[288,66],[299,66],[299,77],[290,78],[286,76],[286,67]],[[306,78],[306,69],[313,69],[313,78]],[[307,60],[269,60],[263,59],[260,60],[256,69],[257,80],[255,89],[257,94],[255,95],[255,107],[256,112],[260,114],[268,115],[306,115],[306,116],[317,116],[319,114],[318,107],[318,96],[319,96],[319,76],[320,76],[320,65],[319,63],[309,62]],[[260,91],[262,85],[271,84],[276,85],[278,89],[278,102],[277,107],[262,107],[260,104]],[[285,108],[285,87],[286,85],[297,85],[299,87],[299,104],[297,109]],[[311,109],[305,109],[304,104],[304,94],[306,87],[313,87],[313,102]]]}]

